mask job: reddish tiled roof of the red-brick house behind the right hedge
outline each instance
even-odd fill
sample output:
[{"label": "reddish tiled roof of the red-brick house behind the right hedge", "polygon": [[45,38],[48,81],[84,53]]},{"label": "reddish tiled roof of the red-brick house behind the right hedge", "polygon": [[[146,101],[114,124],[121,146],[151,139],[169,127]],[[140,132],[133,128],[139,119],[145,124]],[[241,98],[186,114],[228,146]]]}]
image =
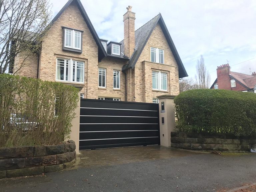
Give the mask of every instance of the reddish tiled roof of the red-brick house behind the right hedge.
[{"label": "reddish tiled roof of the red-brick house behind the right hedge", "polygon": [[[256,85],[256,76],[247,75],[244,73],[232,72],[232,71],[230,71],[229,76],[232,79],[236,80],[239,84],[244,86],[246,89],[254,89],[254,87]],[[218,78],[216,78],[216,80],[214,81],[214,83],[212,84],[210,89],[213,88],[214,84],[217,82],[217,79]]]}]

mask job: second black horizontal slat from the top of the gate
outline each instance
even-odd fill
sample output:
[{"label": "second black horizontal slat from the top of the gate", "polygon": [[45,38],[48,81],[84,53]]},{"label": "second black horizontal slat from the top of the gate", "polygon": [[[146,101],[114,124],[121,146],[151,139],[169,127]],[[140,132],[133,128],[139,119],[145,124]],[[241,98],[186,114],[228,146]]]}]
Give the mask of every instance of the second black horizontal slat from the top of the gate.
[{"label": "second black horizontal slat from the top of the gate", "polygon": [[[103,115],[108,114],[109,116],[129,116],[131,111],[129,110],[111,110],[111,109],[88,109],[81,108],[80,115]],[[145,116],[145,117],[157,117],[157,111],[132,111],[133,116]]]}]

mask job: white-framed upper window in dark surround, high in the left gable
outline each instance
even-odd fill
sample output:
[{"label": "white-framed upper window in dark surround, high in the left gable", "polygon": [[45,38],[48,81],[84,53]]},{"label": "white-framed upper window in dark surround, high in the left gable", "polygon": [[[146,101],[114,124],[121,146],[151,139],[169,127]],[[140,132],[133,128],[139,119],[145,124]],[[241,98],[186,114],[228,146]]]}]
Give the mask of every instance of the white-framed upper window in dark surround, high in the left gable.
[{"label": "white-framed upper window in dark surround, high in the left gable", "polygon": [[64,29],[64,47],[81,50],[81,32],[73,29]]}]

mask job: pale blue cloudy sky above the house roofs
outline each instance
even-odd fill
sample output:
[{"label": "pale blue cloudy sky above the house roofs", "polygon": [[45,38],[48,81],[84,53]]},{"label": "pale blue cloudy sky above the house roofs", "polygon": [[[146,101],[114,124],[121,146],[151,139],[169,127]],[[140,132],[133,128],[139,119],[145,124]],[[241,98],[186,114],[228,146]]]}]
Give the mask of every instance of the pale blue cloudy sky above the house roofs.
[{"label": "pale blue cloudy sky above the house roofs", "polygon": [[[68,0],[50,0],[53,17]],[[135,30],[162,14],[190,78],[203,55],[211,76],[217,66],[229,63],[231,71],[256,71],[255,0],[81,0],[98,36],[120,42],[124,38],[123,15],[132,6]]]}]

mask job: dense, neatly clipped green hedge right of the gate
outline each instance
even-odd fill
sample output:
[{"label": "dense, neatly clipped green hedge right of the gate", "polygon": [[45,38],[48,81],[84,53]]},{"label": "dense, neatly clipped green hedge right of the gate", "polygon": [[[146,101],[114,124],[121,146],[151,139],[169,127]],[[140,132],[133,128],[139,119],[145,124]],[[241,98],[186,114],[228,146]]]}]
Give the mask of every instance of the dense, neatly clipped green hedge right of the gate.
[{"label": "dense, neatly clipped green hedge right of the gate", "polygon": [[256,94],[229,90],[195,89],[175,99],[177,130],[186,132],[256,132]]}]

